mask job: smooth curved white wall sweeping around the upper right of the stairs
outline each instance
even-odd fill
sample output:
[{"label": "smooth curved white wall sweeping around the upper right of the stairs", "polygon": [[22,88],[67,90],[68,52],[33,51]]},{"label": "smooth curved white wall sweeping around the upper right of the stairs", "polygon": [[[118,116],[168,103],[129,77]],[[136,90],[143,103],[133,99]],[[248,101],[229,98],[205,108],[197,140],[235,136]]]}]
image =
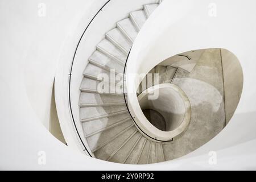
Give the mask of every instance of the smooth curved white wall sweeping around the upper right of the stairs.
[{"label": "smooth curved white wall sweeping around the upper right of the stairs", "polygon": [[[210,3],[216,3],[216,17],[208,14]],[[167,57],[193,49],[225,48],[240,60],[244,85],[236,113],[217,137],[194,154],[217,151],[256,138],[256,102],[253,102],[256,98],[254,5],[254,1],[164,1],[144,24],[134,43],[127,73],[148,72]],[[147,64],[143,64],[145,60]],[[138,84],[128,77],[128,89],[135,90]],[[134,94],[128,97],[133,108],[131,111],[138,112],[137,97]],[[249,150],[255,150],[255,147],[256,144]]]}]

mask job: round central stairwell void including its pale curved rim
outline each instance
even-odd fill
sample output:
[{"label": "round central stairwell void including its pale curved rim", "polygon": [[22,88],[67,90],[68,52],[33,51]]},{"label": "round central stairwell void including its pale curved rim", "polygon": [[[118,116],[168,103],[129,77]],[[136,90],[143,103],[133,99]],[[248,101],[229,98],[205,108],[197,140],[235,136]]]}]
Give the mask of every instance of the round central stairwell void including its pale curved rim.
[{"label": "round central stairwell void including its pale curved rim", "polygon": [[[151,86],[139,94],[138,101],[142,111],[151,110],[149,114],[150,123],[154,126],[152,130],[157,128],[154,134],[167,139],[175,138],[187,128],[191,118],[191,105],[179,86],[170,83]],[[159,126],[159,114],[164,118],[165,129]],[[148,118],[144,119],[144,122],[148,122]]]}]

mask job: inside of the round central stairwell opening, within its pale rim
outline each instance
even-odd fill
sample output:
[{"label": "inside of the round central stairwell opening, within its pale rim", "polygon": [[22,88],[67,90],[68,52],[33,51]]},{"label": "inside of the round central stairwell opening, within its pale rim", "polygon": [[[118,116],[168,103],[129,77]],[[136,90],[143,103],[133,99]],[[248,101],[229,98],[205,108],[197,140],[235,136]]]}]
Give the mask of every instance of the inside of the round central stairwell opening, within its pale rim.
[{"label": "inside of the round central stairwell opening, within its pale rim", "polygon": [[[158,97],[149,99],[153,92]],[[187,112],[184,93],[173,84],[160,84],[145,90],[138,96],[139,105],[147,120],[157,129],[172,131],[184,121]]]}]

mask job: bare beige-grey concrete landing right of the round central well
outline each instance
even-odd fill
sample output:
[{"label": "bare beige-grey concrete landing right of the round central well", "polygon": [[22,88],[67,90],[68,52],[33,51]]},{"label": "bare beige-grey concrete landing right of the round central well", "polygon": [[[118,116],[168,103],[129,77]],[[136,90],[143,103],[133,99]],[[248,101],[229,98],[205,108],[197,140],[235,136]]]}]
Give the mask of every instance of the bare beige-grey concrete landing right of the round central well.
[{"label": "bare beige-grey concrete landing right of the round central well", "polygon": [[180,71],[173,84],[191,102],[187,131],[173,142],[163,143],[166,160],[176,159],[207,143],[225,127],[224,85],[220,49],[206,49],[193,71]]}]

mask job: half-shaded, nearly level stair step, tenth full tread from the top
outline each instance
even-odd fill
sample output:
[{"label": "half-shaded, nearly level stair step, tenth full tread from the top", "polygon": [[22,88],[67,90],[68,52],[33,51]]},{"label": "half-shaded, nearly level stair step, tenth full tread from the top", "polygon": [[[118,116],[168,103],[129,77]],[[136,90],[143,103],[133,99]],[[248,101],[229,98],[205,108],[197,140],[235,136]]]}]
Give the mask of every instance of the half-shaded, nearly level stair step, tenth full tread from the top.
[{"label": "half-shaded, nearly level stair step, tenth full tread from the top", "polygon": [[94,119],[111,117],[123,113],[127,113],[126,105],[80,107],[81,122],[88,122]]}]

